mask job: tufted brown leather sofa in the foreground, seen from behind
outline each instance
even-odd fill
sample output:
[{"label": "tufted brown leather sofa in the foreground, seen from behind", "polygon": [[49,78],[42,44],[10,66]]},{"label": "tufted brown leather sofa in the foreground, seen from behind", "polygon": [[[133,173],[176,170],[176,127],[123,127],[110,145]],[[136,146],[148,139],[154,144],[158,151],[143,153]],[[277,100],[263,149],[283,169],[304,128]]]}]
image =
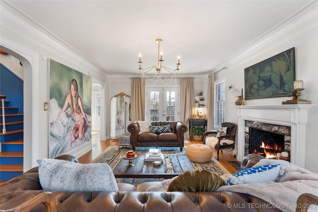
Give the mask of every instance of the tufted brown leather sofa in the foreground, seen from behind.
[{"label": "tufted brown leather sofa in the foreground, seen from behind", "polygon": [[[71,155],[58,159],[78,162]],[[246,159],[245,159],[246,158]],[[242,168],[258,161],[246,155]],[[252,162],[254,161],[254,162]],[[247,165],[247,166],[246,166]],[[267,202],[236,192],[145,192],[151,183],[137,187],[118,183],[119,191],[43,191],[38,167],[0,184],[0,210],[26,212],[277,212],[275,208],[255,207]],[[45,199],[43,197],[46,197]],[[43,203],[43,204],[41,204]],[[56,205],[54,205],[56,204]],[[26,206],[27,205],[27,206]],[[50,210],[48,210],[50,211]]]}]

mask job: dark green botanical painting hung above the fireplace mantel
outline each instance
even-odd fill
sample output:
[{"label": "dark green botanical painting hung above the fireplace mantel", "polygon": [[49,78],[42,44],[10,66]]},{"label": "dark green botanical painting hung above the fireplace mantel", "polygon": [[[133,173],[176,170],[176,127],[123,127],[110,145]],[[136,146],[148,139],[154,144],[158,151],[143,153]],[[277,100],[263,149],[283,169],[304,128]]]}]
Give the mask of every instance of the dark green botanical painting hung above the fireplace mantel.
[{"label": "dark green botanical painting hung above the fireplace mantel", "polygon": [[295,47],[244,69],[245,99],[293,96]]}]

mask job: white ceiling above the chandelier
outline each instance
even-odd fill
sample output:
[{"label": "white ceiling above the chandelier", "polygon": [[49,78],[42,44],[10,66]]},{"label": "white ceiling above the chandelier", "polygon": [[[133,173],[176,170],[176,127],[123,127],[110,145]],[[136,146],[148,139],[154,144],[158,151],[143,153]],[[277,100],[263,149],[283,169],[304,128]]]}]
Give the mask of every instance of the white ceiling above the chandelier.
[{"label": "white ceiling above the chandelier", "polygon": [[9,0],[109,74],[157,64],[207,73],[281,25],[310,0]]}]

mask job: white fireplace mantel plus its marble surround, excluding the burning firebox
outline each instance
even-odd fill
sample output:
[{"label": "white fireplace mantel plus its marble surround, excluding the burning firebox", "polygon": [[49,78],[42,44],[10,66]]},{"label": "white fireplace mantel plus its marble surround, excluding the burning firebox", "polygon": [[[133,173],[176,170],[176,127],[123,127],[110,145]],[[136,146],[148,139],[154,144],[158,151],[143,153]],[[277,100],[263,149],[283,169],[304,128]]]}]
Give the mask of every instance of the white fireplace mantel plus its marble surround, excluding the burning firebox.
[{"label": "white fireplace mantel plus its marble surround, excluding the burning firebox", "polygon": [[[238,110],[237,158],[239,161],[242,161],[243,157],[249,153],[249,143],[245,142],[245,138],[249,138],[249,128],[268,131],[267,128],[271,126],[273,131],[271,133],[284,135],[284,151],[289,153],[290,162],[305,168],[306,124],[308,110],[313,105],[241,105],[234,107]],[[245,126],[249,122],[255,126]],[[258,128],[260,124],[264,125],[261,129]]]}]

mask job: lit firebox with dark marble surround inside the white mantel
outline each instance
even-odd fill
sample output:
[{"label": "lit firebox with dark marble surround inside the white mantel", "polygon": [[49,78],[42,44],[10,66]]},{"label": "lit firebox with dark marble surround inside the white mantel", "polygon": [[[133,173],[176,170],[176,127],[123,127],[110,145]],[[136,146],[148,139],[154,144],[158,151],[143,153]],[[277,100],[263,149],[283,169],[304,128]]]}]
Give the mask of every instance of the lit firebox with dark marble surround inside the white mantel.
[{"label": "lit firebox with dark marble surround inside the white mantel", "polygon": [[[245,121],[245,155],[254,153],[276,158],[277,153],[290,153],[290,127]],[[284,158],[290,161],[289,157]]]}]

